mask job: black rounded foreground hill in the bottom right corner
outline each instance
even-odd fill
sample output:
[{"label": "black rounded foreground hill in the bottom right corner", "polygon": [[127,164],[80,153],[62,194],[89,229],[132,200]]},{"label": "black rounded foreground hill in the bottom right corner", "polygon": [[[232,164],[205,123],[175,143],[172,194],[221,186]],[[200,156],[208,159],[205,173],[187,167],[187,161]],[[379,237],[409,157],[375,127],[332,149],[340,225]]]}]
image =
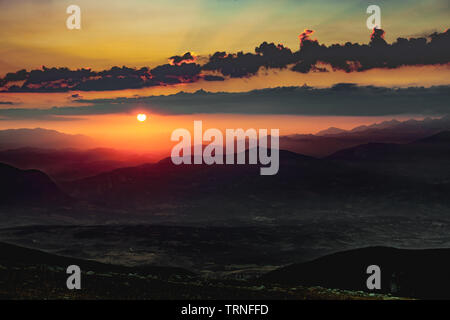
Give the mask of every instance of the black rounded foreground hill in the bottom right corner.
[{"label": "black rounded foreground hill in the bottom right corner", "polygon": [[262,281],[368,291],[367,267],[381,269],[381,293],[424,299],[450,299],[450,249],[405,250],[369,247],[293,264]]}]

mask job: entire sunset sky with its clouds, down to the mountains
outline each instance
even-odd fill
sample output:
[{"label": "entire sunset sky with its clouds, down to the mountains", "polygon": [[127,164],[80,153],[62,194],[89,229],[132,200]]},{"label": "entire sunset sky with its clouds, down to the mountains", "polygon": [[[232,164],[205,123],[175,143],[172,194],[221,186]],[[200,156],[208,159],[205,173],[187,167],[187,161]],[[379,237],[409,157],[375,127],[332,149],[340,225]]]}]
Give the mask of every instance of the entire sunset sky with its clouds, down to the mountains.
[{"label": "entire sunset sky with its clouds, down to the mountains", "polygon": [[[80,30],[66,27],[72,4],[81,8]],[[384,30],[375,36],[366,26],[371,4],[381,8]],[[448,0],[0,0],[0,78],[15,79],[5,80],[0,91],[0,129],[45,127],[92,135],[115,147],[151,149],[167,144],[176,127],[190,128],[198,119],[210,127],[275,126],[291,134],[445,114],[439,104],[445,104],[448,90],[436,94],[433,87],[450,85],[449,18]],[[401,46],[399,37],[428,44],[414,40]],[[264,42],[274,45],[263,47]],[[355,46],[348,49],[347,42]],[[214,56],[217,51],[224,55]],[[240,57],[240,51],[248,55]],[[127,69],[112,69],[122,66]],[[81,68],[90,71],[71,73]],[[15,74],[22,69],[25,74]],[[61,79],[55,78],[59,74]],[[288,108],[284,96],[276,100],[272,93],[270,107],[258,109],[261,98],[253,96],[241,106],[236,95],[232,107],[217,107],[221,101],[215,97],[204,112],[197,106],[205,97],[195,93],[304,85],[326,90],[338,83],[430,91],[414,91],[413,98],[402,92],[410,110],[361,112],[359,106],[373,100],[366,90],[345,114],[315,98],[296,97],[298,103]],[[184,112],[146,98],[181,91],[192,100]],[[118,102],[120,97],[129,100]],[[109,100],[99,106],[99,99]],[[395,99],[384,102],[387,109]],[[317,110],[302,112],[305,106]],[[67,111],[73,108],[79,109]],[[47,111],[36,111],[42,109]],[[149,114],[145,123],[136,121],[138,112]]]}]

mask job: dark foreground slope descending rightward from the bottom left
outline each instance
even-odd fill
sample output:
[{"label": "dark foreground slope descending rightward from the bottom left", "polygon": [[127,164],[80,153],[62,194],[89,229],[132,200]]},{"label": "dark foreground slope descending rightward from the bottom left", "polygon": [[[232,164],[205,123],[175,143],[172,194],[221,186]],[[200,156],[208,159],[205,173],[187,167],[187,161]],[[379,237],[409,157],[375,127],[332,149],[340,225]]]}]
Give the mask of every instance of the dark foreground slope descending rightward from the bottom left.
[{"label": "dark foreground slope descending rightward from the bottom left", "polygon": [[[390,299],[383,295],[201,279],[178,268],[131,268],[55,256],[0,243],[0,299]],[[82,270],[81,290],[66,287],[66,268]]]}]

